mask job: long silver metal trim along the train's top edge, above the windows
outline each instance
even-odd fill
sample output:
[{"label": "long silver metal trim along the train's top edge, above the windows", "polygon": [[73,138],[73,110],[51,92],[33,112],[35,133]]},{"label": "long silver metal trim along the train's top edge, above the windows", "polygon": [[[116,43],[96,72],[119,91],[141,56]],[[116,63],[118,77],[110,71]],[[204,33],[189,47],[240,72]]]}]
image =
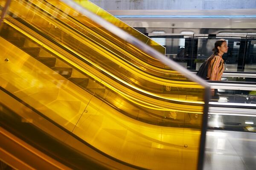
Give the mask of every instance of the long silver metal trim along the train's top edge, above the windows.
[{"label": "long silver metal trim along the train's top edge, above the windows", "polygon": [[[246,32],[255,32],[256,28],[256,18],[150,18],[148,16],[147,18],[119,17],[119,20],[134,28],[145,28],[147,33],[162,30],[166,33],[177,34],[181,31],[193,31],[195,34],[218,34],[220,32],[231,32],[234,29],[236,31],[245,29]],[[168,28],[173,28],[176,31]]]}]

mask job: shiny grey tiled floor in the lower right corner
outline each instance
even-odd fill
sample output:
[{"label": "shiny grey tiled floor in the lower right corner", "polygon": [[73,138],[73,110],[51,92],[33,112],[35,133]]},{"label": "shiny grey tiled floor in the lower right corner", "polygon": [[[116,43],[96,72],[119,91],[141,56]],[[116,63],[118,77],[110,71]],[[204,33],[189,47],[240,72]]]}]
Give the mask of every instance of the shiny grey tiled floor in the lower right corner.
[{"label": "shiny grey tiled floor in the lower right corner", "polygon": [[256,170],[256,133],[208,130],[204,170]]}]

